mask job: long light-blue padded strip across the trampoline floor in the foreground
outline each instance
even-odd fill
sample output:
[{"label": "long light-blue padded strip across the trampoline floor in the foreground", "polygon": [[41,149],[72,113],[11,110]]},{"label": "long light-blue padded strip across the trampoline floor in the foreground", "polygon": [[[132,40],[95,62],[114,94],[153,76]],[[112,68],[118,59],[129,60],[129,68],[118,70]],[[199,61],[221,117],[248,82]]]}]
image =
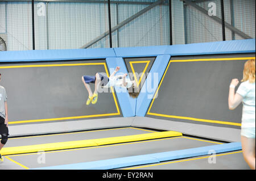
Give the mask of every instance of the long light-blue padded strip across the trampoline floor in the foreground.
[{"label": "long light-blue padded strip across the trampoline floor in the foreground", "polygon": [[197,157],[201,155],[213,154],[209,152],[214,150],[214,153],[224,153],[228,151],[241,150],[241,142],[232,142],[229,144],[204,146],[199,148],[191,148],[184,150],[166,151],[162,153],[153,153],[146,155],[138,155],[132,157],[122,157],[114,159],[104,159],[101,161],[75,163],[68,165],[41,167],[31,170],[107,170],[117,169],[121,167],[143,165],[150,163],[159,163],[163,161],[171,161],[174,159]]}]

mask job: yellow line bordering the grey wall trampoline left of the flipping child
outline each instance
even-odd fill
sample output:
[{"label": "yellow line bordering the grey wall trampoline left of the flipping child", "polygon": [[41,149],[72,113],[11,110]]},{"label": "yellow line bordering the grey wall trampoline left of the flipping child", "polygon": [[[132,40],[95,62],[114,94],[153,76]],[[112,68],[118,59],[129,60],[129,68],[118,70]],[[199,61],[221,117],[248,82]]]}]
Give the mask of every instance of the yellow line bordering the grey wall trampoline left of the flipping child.
[{"label": "yellow line bordering the grey wall trampoline left of the flipping child", "polygon": [[[82,63],[82,64],[41,64],[41,65],[15,65],[15,66],[0,66],[0,69],[11,69],[11,68],[39,68],[39,67],[53,67],[53,66],[82,66],[82,65],[104,65],[104,69],[106,74],[109,77],[108,68],[105,62],[98,63]],[[60,121],[60,120],[68,120],[68,119],[82,119],[82,118],[90,118],[90,117],[102,117],[102,116],[116,116],[120,115],[120,110],[117,103],[117,98],[115,98],[113,87],[110,87],[112,90],[112,95],[115,102],[115,107],[117,108],[116,113],[105,113],[98,115],[85,115],[85,116],[72,116],[72,117],[57,117],[57,118],[49,118],[49,119],[37,119],[37,120],[23,120],[23,121],[9,121],[9,124],[21,124],[21,123],[36,123],[36,122],[44,122],[44,121]]]}]

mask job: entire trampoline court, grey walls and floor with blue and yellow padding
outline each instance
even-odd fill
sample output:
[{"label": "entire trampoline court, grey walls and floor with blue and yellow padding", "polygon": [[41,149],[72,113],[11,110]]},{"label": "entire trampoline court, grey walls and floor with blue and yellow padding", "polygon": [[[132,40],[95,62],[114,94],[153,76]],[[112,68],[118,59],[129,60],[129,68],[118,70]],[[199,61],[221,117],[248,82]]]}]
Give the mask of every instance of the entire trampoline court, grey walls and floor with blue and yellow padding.
[{"label": "entire trampoline court, grey walls and floor with blue and yellow padding", "polygon": [[[251,44],[56,50],[52,59],[42,50],[42,60],[38,52],[10,52],[0,66],[10,132],[0,170],[249,170],[242,107],[228,110],[224,85],[241,79],[241,66],[255,58]],[[12,53],[16,62],[8,59]],[[23,61],[29,57],[37,59]],[[86,106],[82,75],[109,76],[116,66],[131,70],[138,98],[111,88]],[[158,73],[156,81],[151,73]],[[145,92],[150,82],[156,86]]]}]

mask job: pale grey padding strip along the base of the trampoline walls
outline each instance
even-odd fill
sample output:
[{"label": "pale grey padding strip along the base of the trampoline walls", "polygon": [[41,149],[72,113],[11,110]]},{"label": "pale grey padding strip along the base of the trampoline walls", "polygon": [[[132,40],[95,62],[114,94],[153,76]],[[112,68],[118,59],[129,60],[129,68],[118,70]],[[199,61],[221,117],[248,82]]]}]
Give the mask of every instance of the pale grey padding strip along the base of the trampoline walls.
[{"label": "pale grey padding strip along the base of the trampoline walls", "polygon": [[240,129],[214,127],[210,125],[183,123],[178,121],[155,119],[151,117],[112,117],[93,120],[61,121],[59,123],[41,123],[9,126],[9,137],[37,134],[86,131],[91,129],[138,127],[177,131],[196,137],[213,140],[240,142]]}]

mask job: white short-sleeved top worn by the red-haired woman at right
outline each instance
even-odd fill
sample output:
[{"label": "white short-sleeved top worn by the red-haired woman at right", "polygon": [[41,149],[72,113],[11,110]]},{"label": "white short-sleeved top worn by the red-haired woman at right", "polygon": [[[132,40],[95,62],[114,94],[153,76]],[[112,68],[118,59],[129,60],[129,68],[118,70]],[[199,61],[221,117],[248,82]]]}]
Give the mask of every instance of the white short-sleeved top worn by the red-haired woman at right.
[{"label": "white short-sleeved top worn by the red-haired woman at right", "polygon": [[255,82],[242,82],[237,94],[243,97],[242,128],[255,128]]}]

